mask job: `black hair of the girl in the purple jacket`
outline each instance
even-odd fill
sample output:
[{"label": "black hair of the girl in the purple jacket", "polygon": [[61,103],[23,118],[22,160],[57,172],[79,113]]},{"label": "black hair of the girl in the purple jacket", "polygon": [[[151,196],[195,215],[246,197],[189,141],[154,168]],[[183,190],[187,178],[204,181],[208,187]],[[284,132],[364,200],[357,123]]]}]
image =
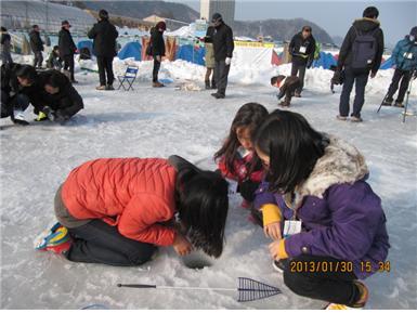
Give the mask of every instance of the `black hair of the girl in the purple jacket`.
[{"label": "black hair of the girl in the purple jacket", "polygon": [[270,157],[266,180],[270,190],[279,193],[291,193],[308,179],[328,144],[302,115],[281,109],[271,113],[253,142]]}]

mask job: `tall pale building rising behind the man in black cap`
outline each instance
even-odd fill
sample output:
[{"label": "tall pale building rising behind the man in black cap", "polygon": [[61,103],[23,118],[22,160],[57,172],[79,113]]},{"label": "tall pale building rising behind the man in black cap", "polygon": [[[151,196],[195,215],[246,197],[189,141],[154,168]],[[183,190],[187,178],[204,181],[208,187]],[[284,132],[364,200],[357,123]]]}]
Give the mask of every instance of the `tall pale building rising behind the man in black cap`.
[{"label": "tall pale building rising behind the man in black cap", "polygon": [[200,0],[199,1],[200,18],[211,19],[211,15],[216,12],[223,16],[223,21],[233,26],[235,22],[235,0]]}]

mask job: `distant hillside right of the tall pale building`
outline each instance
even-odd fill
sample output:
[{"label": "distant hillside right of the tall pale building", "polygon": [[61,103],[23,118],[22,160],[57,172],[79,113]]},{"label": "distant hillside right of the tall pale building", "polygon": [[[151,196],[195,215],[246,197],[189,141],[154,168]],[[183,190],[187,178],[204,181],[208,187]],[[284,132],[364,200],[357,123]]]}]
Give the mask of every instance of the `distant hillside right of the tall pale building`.
[{"label": "distant hillside right of the tall pale building", "polygon": [[313,36],[318,42],[334,43],[331,37],[322,27],[303,18],[295,19],[264,19],[264,21],[236,21],[233,32],[235,36],[257,38],[262,31],[263,36],[271,36],[275,40],[291,40],[292,36],[301,31],[302,26],[309,25]]}]

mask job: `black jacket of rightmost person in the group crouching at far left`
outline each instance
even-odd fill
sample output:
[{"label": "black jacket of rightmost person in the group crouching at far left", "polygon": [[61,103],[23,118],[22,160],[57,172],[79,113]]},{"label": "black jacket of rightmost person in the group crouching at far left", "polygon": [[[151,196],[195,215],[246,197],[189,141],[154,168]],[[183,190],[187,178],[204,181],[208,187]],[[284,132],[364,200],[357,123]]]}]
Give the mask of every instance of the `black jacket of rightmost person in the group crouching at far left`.
[{"label": "black jacket of rightmost person in the group crouching at far left", "polygon": [[[53,74],[58,75],[57,87],[60,92],[50,94],[44,91],[44,84]],[[39,74],[39,81],[42,84],[42,101],[53,110],[61,110],[61,113],[69,117],[84,107],[82,97],[73,87],[69,79],[61,71],[56,69],[42,71]]]}]

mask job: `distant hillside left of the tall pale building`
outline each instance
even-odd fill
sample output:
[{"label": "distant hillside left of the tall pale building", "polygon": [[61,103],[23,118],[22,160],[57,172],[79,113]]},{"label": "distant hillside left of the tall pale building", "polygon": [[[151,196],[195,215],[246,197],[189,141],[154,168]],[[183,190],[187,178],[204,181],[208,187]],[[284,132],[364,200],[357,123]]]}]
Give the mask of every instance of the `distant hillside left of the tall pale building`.
[{"label": "distant hillside left of the tall pale building", "polygon": [[[68,1],[67,1],[68,2]],[[165,1],[73,1],[74,5],[81,9],[99,11],[104,9],[109,14],[145,18],[149,15],[158,15],[166,18],[178,19],[186,23],[199,18],[199,13],[181,3]]]}]

